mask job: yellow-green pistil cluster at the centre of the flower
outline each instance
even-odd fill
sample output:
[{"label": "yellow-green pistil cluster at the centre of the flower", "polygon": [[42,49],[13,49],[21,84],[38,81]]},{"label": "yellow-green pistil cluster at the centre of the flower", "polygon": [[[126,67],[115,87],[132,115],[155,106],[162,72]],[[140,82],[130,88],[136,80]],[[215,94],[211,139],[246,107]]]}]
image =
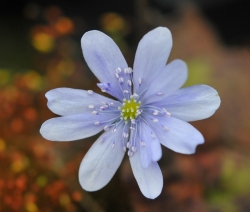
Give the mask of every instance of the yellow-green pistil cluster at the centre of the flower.
[{"label": "yellow-green pistil cluster at the centre of the flower", "polygon": [[139,108],[141,102],[137,102],[134,98],[124,99],[123,106],[119,107],[121,110],[121,119],[125,121],[134,120],[139,115]]}]

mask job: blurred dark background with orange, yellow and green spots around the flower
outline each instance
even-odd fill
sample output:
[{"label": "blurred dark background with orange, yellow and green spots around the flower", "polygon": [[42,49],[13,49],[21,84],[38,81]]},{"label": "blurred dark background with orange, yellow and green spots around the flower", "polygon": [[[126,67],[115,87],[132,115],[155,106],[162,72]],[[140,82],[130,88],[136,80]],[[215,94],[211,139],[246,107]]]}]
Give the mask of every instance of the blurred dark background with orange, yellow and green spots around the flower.
[{"label": "blurred dark background with orange, yellow and green spots around the flower", "polygon": [[[1,212],[249,212],[250,5],[247,0],[0,1]],[[173,35],[169,61],[187,62],[185,86],[208,84],[222,104],[193,122],[205,137],[194,155],[163,148],[164,188],[145,198],[128,158],[102,190],[78,183],[80,162],[97,136],[46,141],[55,115],[44,94],[56,87],[97,89],[80,39],[98,29],[133,66],[141,37],[157,26]]]}]

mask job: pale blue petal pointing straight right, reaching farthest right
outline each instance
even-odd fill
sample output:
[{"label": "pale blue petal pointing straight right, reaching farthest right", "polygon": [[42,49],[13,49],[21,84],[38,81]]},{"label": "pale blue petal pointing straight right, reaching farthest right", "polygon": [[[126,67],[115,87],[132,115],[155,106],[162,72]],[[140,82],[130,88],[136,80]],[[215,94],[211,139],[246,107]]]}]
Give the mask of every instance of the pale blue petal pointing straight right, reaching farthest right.
[{"label": "pale blue petal pointing straight right, reaching farthest right", "polygon": [[165,108],[173,117],[184,121],[197,121],[212,116],[220,103],[215,89],[207,85],[194,85],[177,90],[155,104]]}]

